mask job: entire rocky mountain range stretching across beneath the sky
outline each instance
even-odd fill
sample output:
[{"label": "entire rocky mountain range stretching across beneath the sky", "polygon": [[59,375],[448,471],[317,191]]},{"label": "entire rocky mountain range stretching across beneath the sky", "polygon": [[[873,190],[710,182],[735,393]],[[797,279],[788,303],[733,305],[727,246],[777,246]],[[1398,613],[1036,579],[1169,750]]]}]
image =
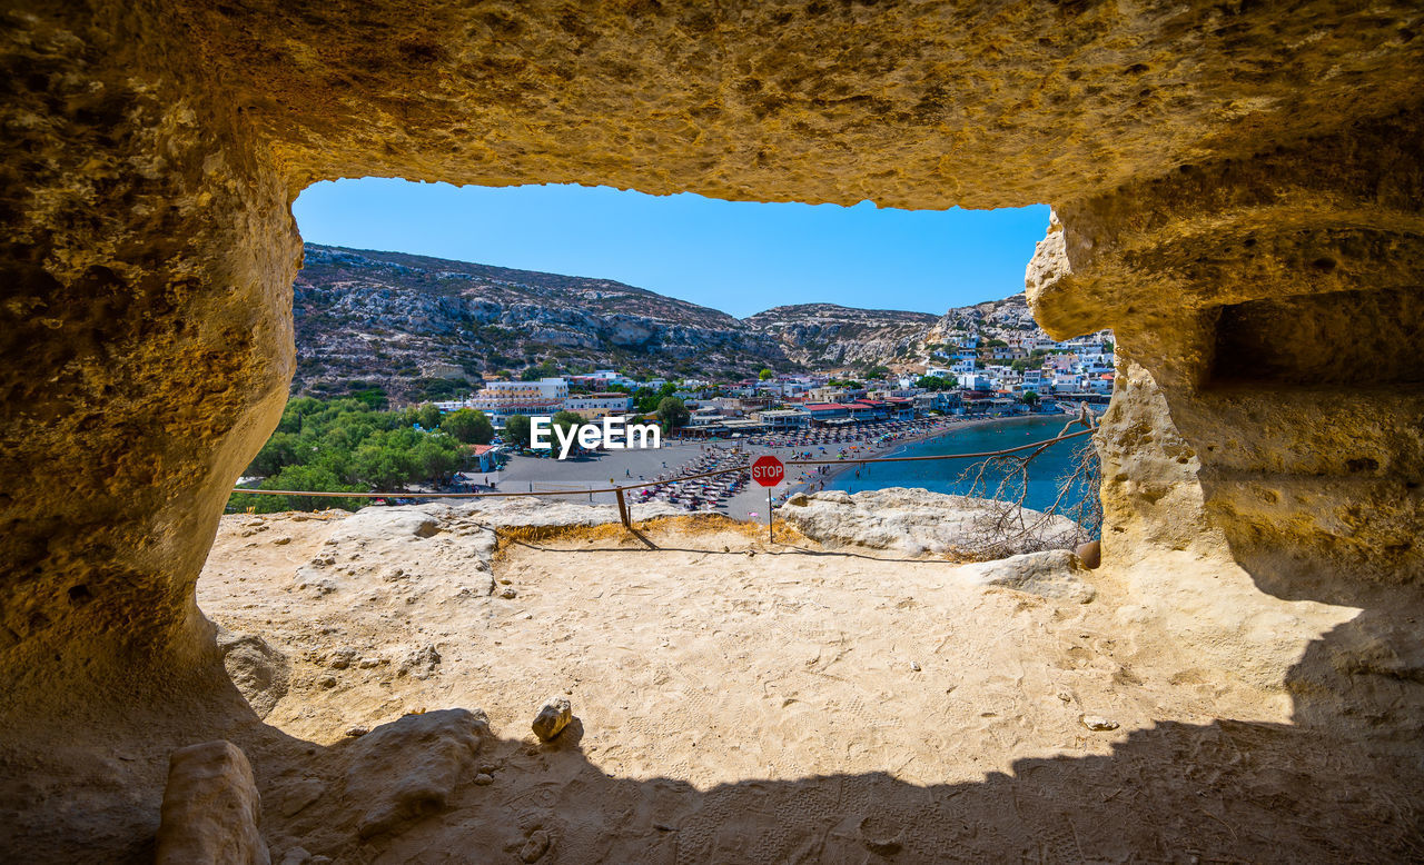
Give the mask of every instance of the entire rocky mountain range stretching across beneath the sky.
[{"label": "entire rocky mountain range stretching across beneath the sky", "polygon": [[545,361],[550,373],[713,380],[763,367],[917,371],[930,350],[971,333],[1042,336],[1022,293],[943,316],[803,303],[736,319],[609,279],[316,243],[305,246],[292,312],[293,393],[365,383],[397,400]]}]

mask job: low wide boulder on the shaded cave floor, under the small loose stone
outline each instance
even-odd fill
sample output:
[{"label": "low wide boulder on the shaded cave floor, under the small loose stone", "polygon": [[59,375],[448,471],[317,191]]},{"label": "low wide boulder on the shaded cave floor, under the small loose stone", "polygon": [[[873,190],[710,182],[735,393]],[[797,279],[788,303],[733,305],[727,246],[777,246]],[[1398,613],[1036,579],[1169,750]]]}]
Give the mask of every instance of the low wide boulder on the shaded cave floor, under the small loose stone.
[{"label": "low wide boulder on the shaded cave floor, under the small loose stone", "polygon": [[444,808],[471,774],[490,736],[483,711],[444,709],[407,714],[362,736],[346,770],[346,800],[359,811],[362,838]]}]

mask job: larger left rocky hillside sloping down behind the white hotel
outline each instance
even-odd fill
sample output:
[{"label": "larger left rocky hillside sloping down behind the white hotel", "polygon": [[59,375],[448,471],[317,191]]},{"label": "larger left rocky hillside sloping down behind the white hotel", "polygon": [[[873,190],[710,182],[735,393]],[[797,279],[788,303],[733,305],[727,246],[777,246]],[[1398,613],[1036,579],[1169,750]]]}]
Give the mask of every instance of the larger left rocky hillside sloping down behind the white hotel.
[{"label": "larger left rocky hillside sloping down behind the white hotel", "polygon": [[607,279],[306,245],[293,286],[293,390],[363,380],[404,394],[454,364],[474,378],[564,368],[678,376],[792,368],[738,319]]}]

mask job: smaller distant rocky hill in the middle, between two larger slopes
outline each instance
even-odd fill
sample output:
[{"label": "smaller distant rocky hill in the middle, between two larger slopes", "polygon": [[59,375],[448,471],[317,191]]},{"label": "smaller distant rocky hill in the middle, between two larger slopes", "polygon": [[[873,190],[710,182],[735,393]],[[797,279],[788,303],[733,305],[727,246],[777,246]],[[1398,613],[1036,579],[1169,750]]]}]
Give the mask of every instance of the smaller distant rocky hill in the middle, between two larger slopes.
[{"label": "smaller distant rocky hill in the middle, between two larger slopes", "polygon": [[852,309],[833,303],[778,306],[745,322],[813,368],[904,360],[938,319],[930,313]]}]

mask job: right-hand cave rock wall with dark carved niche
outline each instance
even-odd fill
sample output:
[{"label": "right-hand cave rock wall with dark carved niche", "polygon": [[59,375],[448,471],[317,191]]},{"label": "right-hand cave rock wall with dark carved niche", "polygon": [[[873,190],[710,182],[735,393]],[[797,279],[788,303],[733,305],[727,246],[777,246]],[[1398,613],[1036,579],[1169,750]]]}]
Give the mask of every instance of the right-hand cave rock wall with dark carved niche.
[{"label": "right-hand cave rock wall with dark carved niche", "polygon": [[1420,132],[1403,112],[1057,209],[1035,313],[1126,359],[1109,548],[1210,529],[1286,596],[1424,576]]}]

